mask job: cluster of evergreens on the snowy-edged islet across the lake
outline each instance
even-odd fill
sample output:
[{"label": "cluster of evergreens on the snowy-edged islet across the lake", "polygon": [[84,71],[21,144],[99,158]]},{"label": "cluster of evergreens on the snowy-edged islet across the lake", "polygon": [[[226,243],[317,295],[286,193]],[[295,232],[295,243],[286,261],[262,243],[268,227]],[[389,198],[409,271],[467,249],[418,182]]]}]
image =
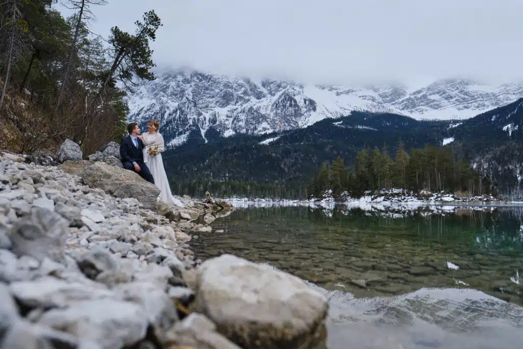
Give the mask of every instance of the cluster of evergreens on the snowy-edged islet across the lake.
[{"label": "cluster of evergreens on the snowy-edged islet across the lake", "polygon": [[360,150],[351,168],[340,157],[332,164],[323,163],[308,186],[308,195],[319,198],[332,189],[334,198],[344,192],[358,197],[366,190],[391,188],[482,195],[492,192],[492,183],[456,157],[451,148],[427,146],[411,149],[408,154],[400,145],[394,159],[387,149],[375,148]]}]

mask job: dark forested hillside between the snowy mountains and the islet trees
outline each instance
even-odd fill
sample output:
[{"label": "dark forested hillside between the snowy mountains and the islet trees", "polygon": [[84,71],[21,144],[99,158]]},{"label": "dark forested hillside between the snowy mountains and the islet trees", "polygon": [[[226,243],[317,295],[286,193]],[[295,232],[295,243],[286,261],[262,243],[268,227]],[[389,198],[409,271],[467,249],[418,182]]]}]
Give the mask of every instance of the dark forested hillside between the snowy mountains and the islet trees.
[{"label": "dark forested hillside between the snowy mountains and the islet trees", "polygon": [[523,174],[522,135],[518,132],[523,122],[522,102],[464,121],[353,111],[303,129],[228,138],[215,133],[207,143],[200,132],[193,131],[187,143],[168,150],[164,159],[178,186],[225,181],[301,187],[323,162],[332,162],[338,155],[350,165],[363,148],[384,149],[394,157],[400,143],[407,151],[446,145],[456,161],[471,161],[474,168],[493,178],[499,192],[518,196],[519,173]]}]

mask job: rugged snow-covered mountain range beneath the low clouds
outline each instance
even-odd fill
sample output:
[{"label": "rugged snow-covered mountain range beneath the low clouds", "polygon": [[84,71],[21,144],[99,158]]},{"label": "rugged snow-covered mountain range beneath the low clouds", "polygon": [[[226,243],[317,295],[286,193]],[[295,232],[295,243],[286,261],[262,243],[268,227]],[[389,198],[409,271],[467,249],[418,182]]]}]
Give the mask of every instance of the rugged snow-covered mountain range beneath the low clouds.
[{"label": "rugged snow-covered mountain range beneath the low clouds", "polygon": [[303,128],[353,110],[392,112],[416,119],[466,119],[523,96],[523,84],[482,85],[441,80],[422,88],[347,87],[236,78],[199,71],[158,74],[128,97],[129,120],[158,119],[167,147],[191,131],[204,139]]}]

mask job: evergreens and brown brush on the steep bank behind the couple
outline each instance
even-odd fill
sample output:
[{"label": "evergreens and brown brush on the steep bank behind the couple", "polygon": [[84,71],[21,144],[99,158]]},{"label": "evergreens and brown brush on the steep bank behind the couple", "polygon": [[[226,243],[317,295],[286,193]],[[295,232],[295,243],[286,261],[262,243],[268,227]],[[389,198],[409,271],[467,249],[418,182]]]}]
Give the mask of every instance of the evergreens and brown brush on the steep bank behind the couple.
[{"label": "evergreens and brown brush on the steep bank behind the couple", "polygon": [[114,26],[102,38],[88,24],[106,0],[62,0],[69,18],[52,3],[0,2],[0,149],[31,152],[70,138],[91,154],[121,137],[126,89],[154,79],[149,43],[160,18],[146,12],[134,32]]}]

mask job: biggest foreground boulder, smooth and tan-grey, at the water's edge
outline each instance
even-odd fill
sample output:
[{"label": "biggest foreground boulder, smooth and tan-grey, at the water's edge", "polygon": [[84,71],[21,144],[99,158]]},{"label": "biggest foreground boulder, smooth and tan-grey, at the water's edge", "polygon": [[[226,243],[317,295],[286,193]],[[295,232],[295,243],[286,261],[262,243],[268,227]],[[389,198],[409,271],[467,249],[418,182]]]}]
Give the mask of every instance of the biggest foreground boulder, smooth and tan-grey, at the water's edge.
[{"label": "biggest foreground boulder, smooth and tan-grey, at the water's edge", "polygon": [[191,310],[244,348],[309,348],[325,341],[324,296],[270,266],[224,254],[184,275],[195,290]]}]

